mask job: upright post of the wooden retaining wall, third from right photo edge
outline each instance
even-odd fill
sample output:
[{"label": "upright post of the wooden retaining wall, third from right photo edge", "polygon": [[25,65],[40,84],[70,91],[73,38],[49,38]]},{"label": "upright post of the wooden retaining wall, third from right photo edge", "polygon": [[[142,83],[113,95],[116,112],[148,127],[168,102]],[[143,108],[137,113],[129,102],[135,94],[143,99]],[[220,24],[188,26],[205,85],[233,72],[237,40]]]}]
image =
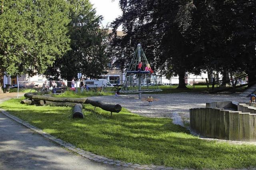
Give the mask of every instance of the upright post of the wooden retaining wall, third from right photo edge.
[{"label": "upright post of the wooden retaining wall, third from right photo edge", "polygon": [[239,113],[242,112],[229,112],[229,140],[232,141],[239,141]]}]

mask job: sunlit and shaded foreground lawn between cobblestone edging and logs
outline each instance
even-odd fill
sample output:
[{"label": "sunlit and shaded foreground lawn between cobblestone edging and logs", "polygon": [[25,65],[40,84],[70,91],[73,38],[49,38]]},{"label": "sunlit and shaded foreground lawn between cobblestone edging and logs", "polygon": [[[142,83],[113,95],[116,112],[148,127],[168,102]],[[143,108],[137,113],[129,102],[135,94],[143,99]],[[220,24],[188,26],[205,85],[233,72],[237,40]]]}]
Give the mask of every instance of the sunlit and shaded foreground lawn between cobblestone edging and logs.
[{"label": "sunlit and shaded foreground lawn between cobblestone edging and logs", "polygon": [[256,166],[256,146],[230,145],[194,137],[171,119],[149,118],[122,109],[110,113],[86,105],[84,119],[72,119],[70,107],[27,106],[11,99],[0,107],[76,147],[112,159],[175,168]]}]

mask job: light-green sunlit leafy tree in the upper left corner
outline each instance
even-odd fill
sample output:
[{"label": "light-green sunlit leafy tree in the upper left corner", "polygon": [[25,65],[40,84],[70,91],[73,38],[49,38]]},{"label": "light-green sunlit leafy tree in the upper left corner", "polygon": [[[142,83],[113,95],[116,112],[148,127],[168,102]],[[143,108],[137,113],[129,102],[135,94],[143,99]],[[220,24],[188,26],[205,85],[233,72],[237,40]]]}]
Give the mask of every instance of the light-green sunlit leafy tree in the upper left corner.
[{"label": "light-green sunlit leafy tree in the upper left corner", "polygon": [[65,0],[8,0],[2,11],[1,77],[4,71],[11,76],[42,74],[69,49]]}]

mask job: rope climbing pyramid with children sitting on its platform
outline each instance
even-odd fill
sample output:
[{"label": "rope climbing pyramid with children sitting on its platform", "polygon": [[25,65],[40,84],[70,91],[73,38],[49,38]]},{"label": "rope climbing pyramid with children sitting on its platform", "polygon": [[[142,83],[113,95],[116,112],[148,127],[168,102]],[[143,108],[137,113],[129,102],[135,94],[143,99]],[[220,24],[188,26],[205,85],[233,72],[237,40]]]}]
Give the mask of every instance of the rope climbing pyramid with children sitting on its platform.
[{"label": "rope climbing pyramid with children sitting on its platform", "polygon": [[156,83],[156,75],[148,63],[146,55],[140,44],[132,58],[125,76],[120,92],[138,93],[141,99],[142,92],[159,92],[162,91]]}]

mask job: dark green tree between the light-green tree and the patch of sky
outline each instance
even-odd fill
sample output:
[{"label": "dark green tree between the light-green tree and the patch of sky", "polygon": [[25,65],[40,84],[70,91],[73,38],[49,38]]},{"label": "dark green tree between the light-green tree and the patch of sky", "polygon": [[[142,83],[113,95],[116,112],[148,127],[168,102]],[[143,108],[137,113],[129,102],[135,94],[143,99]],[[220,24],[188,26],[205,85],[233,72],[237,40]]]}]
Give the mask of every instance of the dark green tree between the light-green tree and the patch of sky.
[{"label": "dark green tree between the light-green tree and the patch of sky", "polygon": [[70,23],[68,35],[71,49],[54,62],[46,71],[46,75],[55,79],[72,80],[78,72],[86,77],[99,78],[106,74],[109,61],[106,55],[104,39],[106,29],[99,27],[102,16],[96,16],[96,10],[89,0],[69,0]]}]

